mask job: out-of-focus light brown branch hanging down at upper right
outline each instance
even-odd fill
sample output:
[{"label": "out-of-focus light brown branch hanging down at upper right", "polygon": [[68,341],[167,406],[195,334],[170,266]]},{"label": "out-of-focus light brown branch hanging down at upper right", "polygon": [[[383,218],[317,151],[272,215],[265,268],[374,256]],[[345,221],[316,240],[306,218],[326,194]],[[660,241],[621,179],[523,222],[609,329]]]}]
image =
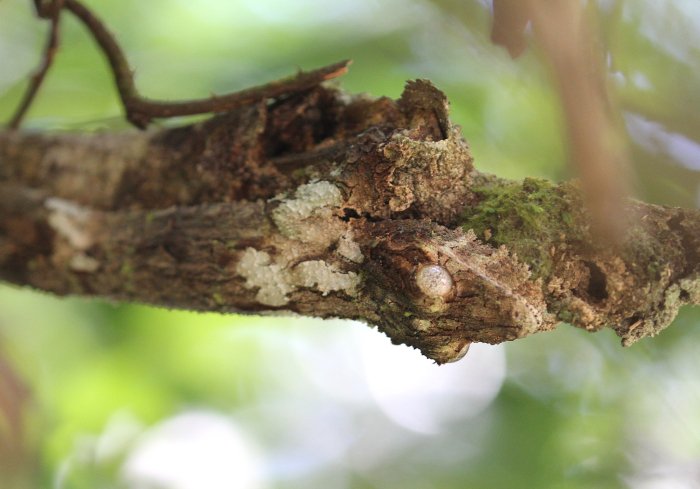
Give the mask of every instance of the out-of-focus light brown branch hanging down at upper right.
[{"label": "out-of-focus light brown branch hanging down at upper right", "polygon": [[566,118],[570,160],[580,176],[586,205],[602,239],[625,235],[630,186],[626,137],[619,108],[608,90],[606,48],[595,2],[494,0],[491,39],[513,58],[527,46],[526,29],[549,65]]}]

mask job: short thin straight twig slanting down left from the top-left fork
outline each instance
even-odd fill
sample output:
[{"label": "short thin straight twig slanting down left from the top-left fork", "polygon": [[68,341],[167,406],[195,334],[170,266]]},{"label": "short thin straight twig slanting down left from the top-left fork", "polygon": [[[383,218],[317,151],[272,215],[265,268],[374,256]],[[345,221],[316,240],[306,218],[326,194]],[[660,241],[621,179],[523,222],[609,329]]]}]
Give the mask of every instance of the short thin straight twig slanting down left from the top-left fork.
[{"label": "short thin straight twig slanting down left from the top-left fork", "polygon": [[10,129],[17,129],[22,123],[22,119],[24,119],[24,116],[27,114],[36,94],[39,92],[41,84],[44,82],[46,73],[53,64],[59,44],[59,21],[61,18],[61,9],[63,8],[63,0],[55,0],[46,4],[42,3],[41,0],[35,0],[34,5],[36,7],[37,16],[43,19],[50,19],[51,27],[49,28],[49,36],[46,40],[46,47],[44,47],[41,64],[34,75],[32,75],[29,87],[27,87],[27,91],[24,93],[19,107],[17,107],[14,116],[12,116],[12,119],[10,119],[8,123]]}]

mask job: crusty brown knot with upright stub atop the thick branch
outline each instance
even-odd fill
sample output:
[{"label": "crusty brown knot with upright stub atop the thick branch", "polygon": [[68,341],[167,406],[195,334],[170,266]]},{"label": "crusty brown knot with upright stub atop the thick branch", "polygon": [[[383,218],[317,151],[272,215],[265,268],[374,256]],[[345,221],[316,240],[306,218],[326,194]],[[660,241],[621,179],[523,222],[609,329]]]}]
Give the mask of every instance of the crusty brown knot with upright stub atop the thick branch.
[{"label": "crusty brown knot with upright stub atop the thick branch", "polygon": [[453,223],[470,195],[469,146],[450,125],[445,95],[430,82],[409,82],[397,104],[405,128],[367,132],[348,153],[342,177],[348,206],[379,219]]}]

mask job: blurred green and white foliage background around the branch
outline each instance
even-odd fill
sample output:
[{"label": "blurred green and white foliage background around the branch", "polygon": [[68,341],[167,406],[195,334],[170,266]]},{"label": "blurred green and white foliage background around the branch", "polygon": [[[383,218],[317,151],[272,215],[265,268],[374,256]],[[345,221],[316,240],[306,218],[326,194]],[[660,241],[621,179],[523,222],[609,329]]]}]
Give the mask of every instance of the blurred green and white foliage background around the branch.
[{"label": "blurred green and white foliage background around the branch", "polygon": [[[429,78],[484,171],[571,174],[536,49],[489,41],[477,0],[92,0],[142,93],[227,92],[344,58],[342,86]],[[47,26],[0,1],[0,119]],[[633,187],[700,205],[700,2],[600,0]],[[176,124],[169,121],[168,124]],[[127,129],[106,63],[64,16],[25,127]],[[1,162],[0,162],[1,164]],[[622,349],[568,326],[437,367],[348,321],[58,299],[0,284],[0,488],[700,487],[700,310]]]}]

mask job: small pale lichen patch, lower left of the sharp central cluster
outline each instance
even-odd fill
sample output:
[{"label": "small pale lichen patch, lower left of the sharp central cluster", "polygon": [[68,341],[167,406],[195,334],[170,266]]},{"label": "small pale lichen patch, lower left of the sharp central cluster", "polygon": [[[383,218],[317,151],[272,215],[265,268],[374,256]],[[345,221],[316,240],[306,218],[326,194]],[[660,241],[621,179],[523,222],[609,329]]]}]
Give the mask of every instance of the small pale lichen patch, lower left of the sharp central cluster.
[{"label": "small pale lichen patch, lower left of the sharp central cluster", "polygon": [[260,304],[283,306],[289,302],[287,294],[294,290],[289,283],[289,272],[281,265],[272,263],[266,252],[255,248],[247,248],[243,252],[236,273],[246,279],[246,288],[259,288],[255,300]]}]

